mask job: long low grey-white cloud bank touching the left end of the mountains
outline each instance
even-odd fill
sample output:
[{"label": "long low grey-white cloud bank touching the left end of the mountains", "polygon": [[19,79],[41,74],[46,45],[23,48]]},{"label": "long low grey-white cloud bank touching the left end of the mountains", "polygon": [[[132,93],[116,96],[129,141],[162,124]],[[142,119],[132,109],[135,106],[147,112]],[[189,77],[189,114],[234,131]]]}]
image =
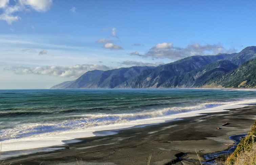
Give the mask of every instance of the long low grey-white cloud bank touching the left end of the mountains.
[{"label": "long low grey-white cloud bank touching the left end of the mountains", "polygon": [[38,66],[38,67],[25,67],[14,66],[5,68],[5,70],[13,71],[15,74],[36,74],[36,75],[49,75],[58,77],[77,78],[84,73],[92,70],[110,70],[112,68],[105,65],[93,64],[78,64],[73,66]]}]

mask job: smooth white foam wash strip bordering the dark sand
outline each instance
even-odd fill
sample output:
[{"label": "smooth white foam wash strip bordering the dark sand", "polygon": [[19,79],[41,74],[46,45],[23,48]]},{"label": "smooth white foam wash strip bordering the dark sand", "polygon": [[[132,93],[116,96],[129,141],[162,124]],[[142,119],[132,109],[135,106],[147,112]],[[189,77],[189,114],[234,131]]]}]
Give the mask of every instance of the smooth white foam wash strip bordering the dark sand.
[{"label": "smooth white foam wash strip bordering the dark sand", "polygon": [[[229,103],[229,104],[219,105],[219,106],[216,106],[213,108],[171,114],[168,116],[160,116],[160,117],[132,120],[132,121],[125,122],[125,123],[105,125],[105,126],[100,126],[100,127],[92,127],[92,128],[88,128],[86,130],[69,131],[69,132],[63,132],[63,133],[57,132],[54,135],[48,135],[48,136],[46,135],[46,136],[38,136],[38,137],[10,139],[10,140],[1,142],[2,143],[1,151],[2,151],[2,153],[4,153],[4,152],[9,152],[9,151],[37,149],[37,148],[42,148],[42,147],[53,147],[56,145],[65,145],[68,143],[78,142],[78,141],[76,141],[76,139],[79,139],[79,138],[87,138],[87,137],[97,136],[95,133],[97,133],[99,131],[112,131],[113,132],[115,130],[133,129],[136,127],[144,127],[144,126],[148,126],[148,125],[161,124],[161,123],[169,122],[172,120],[178,120],[180,118],[200,116],[205,113],[225,112],[228,109],[241,108],[244,106],[248,106],[251,103],[256,103],[256,99],[243,100],[243,101],[237,101],[237,102],[227,102],[227,103]],[[106,134],[106,135],[108,135],[108,134]],[[101,136],[105,136],[105,135],[101,135]],[[66,142],[64,142],[64,141],[66,141]],[[26,143],[26,144],[24,144],[24,143]],[[0,160],[1,160],[1,156],[0,156]]]}]

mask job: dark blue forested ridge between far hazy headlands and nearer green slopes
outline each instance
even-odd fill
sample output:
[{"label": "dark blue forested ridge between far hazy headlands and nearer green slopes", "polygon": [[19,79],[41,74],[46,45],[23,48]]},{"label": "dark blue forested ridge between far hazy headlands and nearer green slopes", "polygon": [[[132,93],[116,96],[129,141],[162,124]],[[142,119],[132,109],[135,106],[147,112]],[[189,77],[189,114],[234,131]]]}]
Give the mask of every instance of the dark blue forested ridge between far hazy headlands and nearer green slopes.
[{"label": "dark blue forested ridge between far hazy headlands and nearer green slopes", "polygon": [[158,66],[151,71],[144,71],[133,79],[130,86],[132,88],[176,87],[182,81],[183,75],[223,58],[224,55],[187,57]]}]

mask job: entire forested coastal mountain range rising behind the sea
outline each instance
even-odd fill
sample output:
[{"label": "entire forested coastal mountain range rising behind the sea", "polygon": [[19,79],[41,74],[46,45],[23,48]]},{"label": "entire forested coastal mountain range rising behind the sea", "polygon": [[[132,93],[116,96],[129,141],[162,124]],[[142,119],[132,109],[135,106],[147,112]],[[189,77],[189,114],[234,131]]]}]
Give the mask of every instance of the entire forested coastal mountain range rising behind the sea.
[{"label": "entire forested coastal mountain range rising behind the sea", "polygon": [[256,87],[256,47],[239,53],[190,56],[164,65],[94,70],[51,89]]}]

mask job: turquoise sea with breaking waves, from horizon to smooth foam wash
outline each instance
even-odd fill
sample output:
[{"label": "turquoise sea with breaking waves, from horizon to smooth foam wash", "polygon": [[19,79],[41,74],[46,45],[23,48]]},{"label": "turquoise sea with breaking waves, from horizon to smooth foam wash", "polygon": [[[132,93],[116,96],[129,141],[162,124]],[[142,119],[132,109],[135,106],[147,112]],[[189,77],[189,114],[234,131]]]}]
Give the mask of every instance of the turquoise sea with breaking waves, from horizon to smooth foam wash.
[{"label": "turquoise sea with breaking waves, from horizon to smooth foam wash", "polygon": [[254,98],[253,90],[0,90],[0,141],[84,130]]}]

